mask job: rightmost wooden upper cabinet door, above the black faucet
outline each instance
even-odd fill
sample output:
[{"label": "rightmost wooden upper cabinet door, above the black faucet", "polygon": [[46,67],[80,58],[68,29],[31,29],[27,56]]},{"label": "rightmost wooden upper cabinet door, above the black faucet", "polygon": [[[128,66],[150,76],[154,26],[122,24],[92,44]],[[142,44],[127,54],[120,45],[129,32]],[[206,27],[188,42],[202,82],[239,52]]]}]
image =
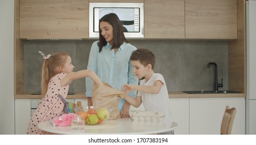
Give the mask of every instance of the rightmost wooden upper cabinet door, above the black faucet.
[{"label": "rightmost wooden upper cabinet door, above the black faucet", "polygon": [[237,39],[236,0],[185,0],[185,38]]}]

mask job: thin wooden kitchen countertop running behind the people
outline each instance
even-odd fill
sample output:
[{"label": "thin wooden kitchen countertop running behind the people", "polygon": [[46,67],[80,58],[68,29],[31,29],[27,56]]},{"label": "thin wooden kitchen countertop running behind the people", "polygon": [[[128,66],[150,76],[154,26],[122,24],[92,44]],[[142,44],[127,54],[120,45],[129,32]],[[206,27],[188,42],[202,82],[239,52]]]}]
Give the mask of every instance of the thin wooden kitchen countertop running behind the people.
[{"label": "thin wooden kitchen countertop running behind the people", "polygon": [[[25,92],[15,95],[15,99],[38,99],[43,95],[31,95],[32,92]],[[224,98],[224,97],[246,97],[245,93],[237,94],[187,94],[183,92],[169,92],[169,98]],[[85,92],[77,92],[74,95],[68,95],[68,99],[86,99]]]}]

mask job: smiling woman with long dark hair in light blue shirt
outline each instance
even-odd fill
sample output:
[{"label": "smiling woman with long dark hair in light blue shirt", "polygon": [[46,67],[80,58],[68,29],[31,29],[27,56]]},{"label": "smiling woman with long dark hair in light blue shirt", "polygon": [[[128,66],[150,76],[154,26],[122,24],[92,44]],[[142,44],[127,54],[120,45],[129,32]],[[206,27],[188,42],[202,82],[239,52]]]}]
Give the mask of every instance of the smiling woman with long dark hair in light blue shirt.
[{"label": "smiling woman with long dark hair in light blue shirt", "polygon": [[[129,61],[131,53],[137,48],[126,40],[123,26],[115,13],[109,13],[100,19],[99,41],[93,42],[90,50],[87,69],[95,71],[101,81],[110,84],[114,89],[122,90],[123,84],[138,84],[139,80],[132,72]],[[136,92],[129,95],[136,97]],[[91,101],[92,81],[86,78],[88,105]],[[127,118],[130,104],[120,98],[118,109],[120,117]]]}]

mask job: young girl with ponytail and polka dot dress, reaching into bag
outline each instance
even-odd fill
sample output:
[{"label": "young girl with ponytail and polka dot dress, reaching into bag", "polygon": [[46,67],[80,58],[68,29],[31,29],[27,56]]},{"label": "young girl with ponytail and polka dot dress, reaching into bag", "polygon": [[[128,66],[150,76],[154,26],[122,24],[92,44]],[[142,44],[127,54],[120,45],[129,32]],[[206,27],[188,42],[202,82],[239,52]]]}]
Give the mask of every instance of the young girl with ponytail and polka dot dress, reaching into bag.
[{"label": "young girl with ponytail and polka dot dress, reaching into bag", "polygon": [[74,66],[68,53],[59,52],[47,56],[41,51],[39,53],[45,59],[42,67],[42,94],[44,98],[31,117],[28,134],[49,134],[39,130],[37,124],[69,113],[68,103],[65,99],[68,95],[69,84],[73,80],[90,77],[95,83],[102,84],[92,70],[73,72]]}]

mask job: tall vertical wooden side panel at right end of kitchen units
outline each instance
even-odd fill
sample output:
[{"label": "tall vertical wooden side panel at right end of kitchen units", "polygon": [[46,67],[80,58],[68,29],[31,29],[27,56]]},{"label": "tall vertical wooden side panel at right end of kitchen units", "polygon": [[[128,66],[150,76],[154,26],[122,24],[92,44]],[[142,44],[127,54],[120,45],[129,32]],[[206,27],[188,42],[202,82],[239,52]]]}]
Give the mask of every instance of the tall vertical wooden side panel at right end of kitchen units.
[{"label": "tall vertical wooden side panel at right end of kitchen units", "polygon": [[246,93],[246,11],[237,0],[237,40],[228,41],[228,89]]}]

